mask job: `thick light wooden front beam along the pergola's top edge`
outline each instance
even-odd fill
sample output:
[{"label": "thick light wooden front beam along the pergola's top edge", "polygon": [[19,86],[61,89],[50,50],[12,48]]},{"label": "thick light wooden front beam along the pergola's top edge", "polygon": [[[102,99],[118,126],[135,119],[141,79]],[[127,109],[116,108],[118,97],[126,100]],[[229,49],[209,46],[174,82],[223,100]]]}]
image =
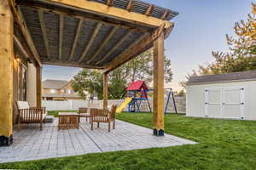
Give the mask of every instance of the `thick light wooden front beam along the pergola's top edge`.
[{"label": "thick light wooden front beam along the pergola's top edge", "polygon": [[113,17],[119,20],[129,21],[131,23],[140,24],[143,26],[160,27],[165,24],[165,28],[172,25],[171,22],[160,20],[145,14],[137,14],[129,12],[123,8],[109,7],[106,4],[96,3],[93,1],[84,0],[48,0],[48,3],[60,5],[62,7],[76,8],[93,14],[101,14],[106,17]]}]

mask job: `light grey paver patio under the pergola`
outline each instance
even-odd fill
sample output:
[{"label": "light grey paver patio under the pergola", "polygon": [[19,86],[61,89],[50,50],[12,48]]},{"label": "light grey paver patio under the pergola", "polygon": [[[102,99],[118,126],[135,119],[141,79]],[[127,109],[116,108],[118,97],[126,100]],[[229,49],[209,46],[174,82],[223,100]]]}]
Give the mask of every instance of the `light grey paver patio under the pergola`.
[{"label": "light grey paver patio under the pergola", "polygon": [[14,131],[14,144],[0,148],[0,163],[196,144],[169,134],[156,137],[152,134],[152,129],[118,120],[116,129],[110,133],[107,123],[101,123],[100,128],[97,128],[95,123],[93,131],[85,119],[79,129],[58,131],[57,123],[57,118],[52,123],[45,123],[43,131],[39,130],[38,124],[23,124],[20,131]]}]

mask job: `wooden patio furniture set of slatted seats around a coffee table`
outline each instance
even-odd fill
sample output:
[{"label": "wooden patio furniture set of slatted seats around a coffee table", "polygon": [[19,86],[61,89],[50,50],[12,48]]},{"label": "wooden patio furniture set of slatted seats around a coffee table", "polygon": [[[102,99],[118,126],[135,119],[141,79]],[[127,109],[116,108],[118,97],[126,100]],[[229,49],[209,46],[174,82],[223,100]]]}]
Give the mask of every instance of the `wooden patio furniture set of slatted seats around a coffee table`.
[{"label": "wooden patio furniture set of slatted seats around a coffee table", "polygon": [[[20,123],[40,123],[40,130],[43,128],[44,122],[50,122],[53,119],[52,116],[47,116],[45,107],[36,108],[29,107],[26,101],[17,101],[18,107],[18,129],[20,129]],[[79,108],[79,112],[59,112],[58,129],[72,129],[78,128],[80,119],[86,118],[86,122],[91,125],[93,130],[93,123],[97,123],[97,127],[100,127],[100,123],[108,123],[108,132],[110,132],[110,125],[113,122],[113,129],[115,128],[115,112],[117,105],[112,105],[107,110],[98,109],[99,105],[88,105],[88,108]]]}]

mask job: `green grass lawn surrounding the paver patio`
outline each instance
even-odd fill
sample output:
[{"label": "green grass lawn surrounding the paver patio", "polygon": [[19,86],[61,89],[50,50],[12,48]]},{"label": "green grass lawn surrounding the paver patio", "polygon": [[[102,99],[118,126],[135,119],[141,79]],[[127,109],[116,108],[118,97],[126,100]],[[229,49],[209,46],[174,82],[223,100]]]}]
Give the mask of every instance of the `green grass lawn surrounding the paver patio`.
[{"label": "green grass lawn surrounding the paver patio", "polygon": [[[118,119],[152,127],[150,114]],[[199,144],[0,164],[17,169],[256,169],[256,122],[165,116],[165,132]]]}]

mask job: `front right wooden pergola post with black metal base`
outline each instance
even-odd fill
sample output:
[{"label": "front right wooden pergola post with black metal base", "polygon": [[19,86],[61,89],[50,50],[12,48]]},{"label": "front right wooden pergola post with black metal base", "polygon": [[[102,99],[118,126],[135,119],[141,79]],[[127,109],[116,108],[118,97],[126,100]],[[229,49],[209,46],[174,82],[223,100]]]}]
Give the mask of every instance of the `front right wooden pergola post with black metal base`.
[{"label": "front right wooden pergola post with black metal base", "polygon": [[154,41],[154,135],[164,135],[164,33]]}]

